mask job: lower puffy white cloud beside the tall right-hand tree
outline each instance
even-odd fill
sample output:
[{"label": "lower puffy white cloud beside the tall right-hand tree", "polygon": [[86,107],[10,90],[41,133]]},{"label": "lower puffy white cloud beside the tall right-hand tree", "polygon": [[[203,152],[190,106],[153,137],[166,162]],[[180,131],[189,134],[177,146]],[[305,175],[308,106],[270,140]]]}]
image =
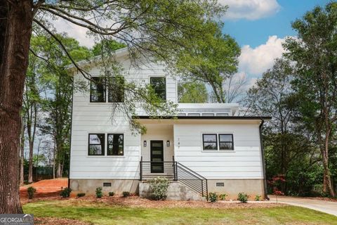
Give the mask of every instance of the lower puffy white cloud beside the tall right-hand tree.
[{"label": "lower puffy white cloud beside the tall right-hand tree", "polygon": [[265,44],[256,48],[245,45],[241,49],[239,56],[239,71],[249,75],[261,75],[267,69],[272,68],[276,58],[282,56],[284,39],[270,36]]}]

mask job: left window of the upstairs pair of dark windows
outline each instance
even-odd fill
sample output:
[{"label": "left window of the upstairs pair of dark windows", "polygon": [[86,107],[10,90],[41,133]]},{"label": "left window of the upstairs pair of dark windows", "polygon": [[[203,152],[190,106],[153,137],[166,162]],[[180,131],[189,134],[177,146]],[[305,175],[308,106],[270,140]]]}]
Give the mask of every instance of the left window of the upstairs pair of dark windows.
[{"label": "left window of the upstairs pair of dark windows", "polygon": [[90,102],[105,103],[105,79],[103,77],[91,77]]}]

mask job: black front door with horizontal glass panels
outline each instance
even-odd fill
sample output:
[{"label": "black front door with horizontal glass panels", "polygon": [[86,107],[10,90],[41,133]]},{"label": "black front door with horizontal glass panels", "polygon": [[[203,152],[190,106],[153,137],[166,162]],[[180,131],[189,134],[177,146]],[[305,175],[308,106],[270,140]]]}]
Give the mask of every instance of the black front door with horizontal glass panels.
[{"label": "black front door with horizontal glass panels", "polygon": [[150,141],[151,172],[164,173],[164,142]]}]

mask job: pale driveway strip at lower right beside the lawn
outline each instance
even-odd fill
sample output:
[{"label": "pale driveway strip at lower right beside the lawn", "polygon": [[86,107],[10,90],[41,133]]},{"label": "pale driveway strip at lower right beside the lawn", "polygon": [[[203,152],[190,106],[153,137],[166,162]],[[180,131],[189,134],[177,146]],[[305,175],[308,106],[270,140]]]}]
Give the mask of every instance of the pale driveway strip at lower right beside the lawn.
[{"label": "pale driveway strip at lower right beside the lawn", "polygon": [[[268,195],[270,202],[276,202],[275,195]],[[289,196],[277,196],[278,203],[286,203],[288,205],[295,205],[300,207],[306,207],[308,209],[317,210],[319,212],[325,212],[333,214],[337,217],[337,203],[324,200],[314,200],[310,198],[294,198]]]}]

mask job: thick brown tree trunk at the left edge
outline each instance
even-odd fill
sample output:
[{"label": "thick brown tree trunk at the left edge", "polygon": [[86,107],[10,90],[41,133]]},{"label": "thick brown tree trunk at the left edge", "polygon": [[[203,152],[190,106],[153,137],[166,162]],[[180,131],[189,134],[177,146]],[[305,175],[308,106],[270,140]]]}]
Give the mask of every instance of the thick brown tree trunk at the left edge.
[{"label": "thick brown tree trunk at the left edge", "polygon": [[32,35],[32,2],[0,1],[0,214],[22,213],[18,148]]}]

